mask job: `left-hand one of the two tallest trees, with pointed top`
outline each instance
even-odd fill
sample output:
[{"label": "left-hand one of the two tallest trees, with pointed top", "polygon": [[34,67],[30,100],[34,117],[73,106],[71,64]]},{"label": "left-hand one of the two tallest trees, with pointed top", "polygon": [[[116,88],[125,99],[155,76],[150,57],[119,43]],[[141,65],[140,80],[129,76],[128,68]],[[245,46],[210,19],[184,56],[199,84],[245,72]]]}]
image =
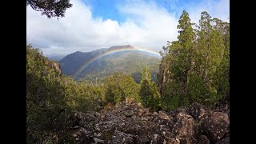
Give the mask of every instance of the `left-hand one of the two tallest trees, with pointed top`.
[{"label": "left-hand one of the two tallest trees, with pointed top", "polygon": [[178,41],[167,43],[168,53],[165,56],[167,65],[162,64],[166,66],[162,67],[162,70],[167,71],[167,73],[162,73],[160,70],[160,74],[166,74],[160,76],[160,78],[165,79],[163,79],[165,86],[160,86],[162,87],[161,93],[163,91],[162,106],[169,108],[172,105],[174,105],[172,108],[175,108],[189,104],[187,95],[189,94],[189,75],[193,64],[194,30],[189,14],[185,10],[183,10],[178,22]]}]

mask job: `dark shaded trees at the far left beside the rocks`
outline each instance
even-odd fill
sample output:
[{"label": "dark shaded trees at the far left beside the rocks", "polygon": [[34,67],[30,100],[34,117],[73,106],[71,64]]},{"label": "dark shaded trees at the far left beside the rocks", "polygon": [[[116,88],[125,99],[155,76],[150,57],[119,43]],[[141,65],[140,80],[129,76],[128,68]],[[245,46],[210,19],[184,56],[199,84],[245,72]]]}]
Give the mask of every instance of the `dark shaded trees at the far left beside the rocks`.
[{"label": "dark shaded trees at the far left beside the rocks", "polygon": [[65,89],[61,74],[46,65],[38,49],[26,46],[26,126],[27,142],[58,142],[66,135]]}]

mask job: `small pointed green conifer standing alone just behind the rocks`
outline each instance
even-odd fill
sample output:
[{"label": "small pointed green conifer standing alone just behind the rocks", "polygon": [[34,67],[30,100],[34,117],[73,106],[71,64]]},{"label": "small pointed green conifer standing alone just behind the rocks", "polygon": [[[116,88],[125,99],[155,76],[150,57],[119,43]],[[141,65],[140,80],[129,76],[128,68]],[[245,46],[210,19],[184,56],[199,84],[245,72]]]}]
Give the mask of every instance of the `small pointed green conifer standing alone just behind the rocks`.
[{"label": "small pointed green conifer standing alone just behind the rocks", "polygon": [[142,104],[144,106],[151,107],[153,110],[158,109],[160,100],[158,86],[154,82],[151,82],[151,74],[147,66],[142,73],[139,95],[142,98]]}]

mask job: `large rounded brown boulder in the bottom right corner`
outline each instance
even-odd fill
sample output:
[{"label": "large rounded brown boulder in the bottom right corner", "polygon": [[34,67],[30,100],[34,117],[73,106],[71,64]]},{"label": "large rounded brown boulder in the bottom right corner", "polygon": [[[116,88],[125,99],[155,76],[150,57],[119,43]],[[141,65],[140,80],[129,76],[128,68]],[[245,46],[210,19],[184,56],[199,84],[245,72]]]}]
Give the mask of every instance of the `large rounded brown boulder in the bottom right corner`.
[{"label": "large rounded brown boulder in the bottom right corner", "polygon": [[206,114],[201,122],[202,128],[206,130],[206,134],[214,142],[218,142],[229,131],[229,117],[222,112]]}]

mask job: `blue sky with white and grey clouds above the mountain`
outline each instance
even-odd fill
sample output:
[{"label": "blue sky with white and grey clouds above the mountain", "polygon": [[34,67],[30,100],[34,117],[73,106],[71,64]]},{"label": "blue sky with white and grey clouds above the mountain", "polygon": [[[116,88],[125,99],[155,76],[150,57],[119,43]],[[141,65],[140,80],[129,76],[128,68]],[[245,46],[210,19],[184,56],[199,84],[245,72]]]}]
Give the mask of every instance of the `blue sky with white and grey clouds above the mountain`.
[{"label": "blue sky with white and grey clouds above the mountain", "polygon": [[70,0],[65,17],[47,18],[26,6],[26,42],[43,54],[71,54],[110,46],[162,50],[178,36],[182,10],[198,23],[202,11],[230,22],[229,0]]}]

